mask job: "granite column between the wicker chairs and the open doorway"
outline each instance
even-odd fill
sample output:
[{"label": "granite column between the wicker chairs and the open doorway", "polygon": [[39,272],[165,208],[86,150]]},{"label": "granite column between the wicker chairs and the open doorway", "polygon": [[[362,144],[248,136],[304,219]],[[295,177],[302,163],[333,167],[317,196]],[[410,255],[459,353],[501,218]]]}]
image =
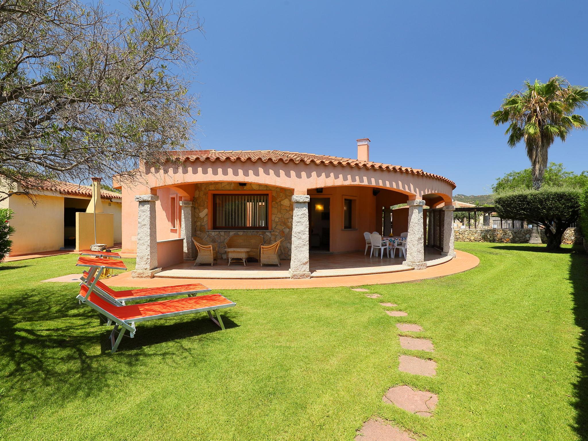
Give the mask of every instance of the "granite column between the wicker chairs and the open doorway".
[{"label": "granite column between the wicker chairs and the open doorway", "polygon": [[294,203],[294,212],[292,216],[290,279],[309,279],[308,203],[310,196],[293,195],[292,202]]}]

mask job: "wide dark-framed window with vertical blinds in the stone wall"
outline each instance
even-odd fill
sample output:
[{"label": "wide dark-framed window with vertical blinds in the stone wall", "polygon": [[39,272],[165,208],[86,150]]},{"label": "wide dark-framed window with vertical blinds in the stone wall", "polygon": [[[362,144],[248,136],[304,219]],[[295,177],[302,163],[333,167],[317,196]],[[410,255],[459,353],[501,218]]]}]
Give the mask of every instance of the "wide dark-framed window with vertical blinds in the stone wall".
[{"label": "wide dark-framed window with vertical blinds in the stone wall", "polygon": [[214,193],[213,229],[269,229],[268,193]]}]

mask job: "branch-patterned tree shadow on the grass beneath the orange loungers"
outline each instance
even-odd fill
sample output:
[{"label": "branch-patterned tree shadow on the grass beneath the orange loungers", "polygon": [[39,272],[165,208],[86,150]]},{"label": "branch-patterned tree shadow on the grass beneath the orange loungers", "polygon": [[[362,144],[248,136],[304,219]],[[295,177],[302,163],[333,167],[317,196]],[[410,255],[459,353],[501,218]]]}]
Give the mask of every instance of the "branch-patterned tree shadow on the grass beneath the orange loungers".
[{"label": "branch-patterned tree shadow on the grass beneath the orange loungers", "polygon": [[[108,387],[112,377],[150,363],[148,358],[172,362],[182,353],[198,357],[198,345],[186,337],[222,332],[206,313],[138,323],[136,337],[123,339],[111,356],[112,326],[103,325],[91,308],[78,305],[77,286],[64,285],[15,289],[0,298],[0,386],[12,399],[33,395],[41,403],[89,397]],[[222,318],[226,328],[238,326],[226,315]],[[158,343],[166,344],[143,350]]]}]

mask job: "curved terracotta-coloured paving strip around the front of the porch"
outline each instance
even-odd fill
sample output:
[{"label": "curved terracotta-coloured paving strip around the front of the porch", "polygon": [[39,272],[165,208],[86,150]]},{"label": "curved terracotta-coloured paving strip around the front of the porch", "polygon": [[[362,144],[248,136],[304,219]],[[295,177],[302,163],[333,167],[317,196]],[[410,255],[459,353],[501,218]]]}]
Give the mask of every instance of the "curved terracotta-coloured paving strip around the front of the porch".
[{"label": "curved terracotta-coloured paving strip around the front of the porch", "polygon": [[[416,280],[434,279],[449,276],[475,268],[480,259],[470,253],[456,250],[456,257],[448,262],[427,266],[421,270],[400,272],[316,277],[310,279],[198,279],[199,283],[211,289],[288,289],[288,288],[335,288],[339,286],[386,285],[389,283],[415,282]],[[152,288],[157,286],[182,285],[194,283],[195,279],[154,278],[131,279],[131,272],[122,273],[105,280],[109,286],[129,286]]]}]

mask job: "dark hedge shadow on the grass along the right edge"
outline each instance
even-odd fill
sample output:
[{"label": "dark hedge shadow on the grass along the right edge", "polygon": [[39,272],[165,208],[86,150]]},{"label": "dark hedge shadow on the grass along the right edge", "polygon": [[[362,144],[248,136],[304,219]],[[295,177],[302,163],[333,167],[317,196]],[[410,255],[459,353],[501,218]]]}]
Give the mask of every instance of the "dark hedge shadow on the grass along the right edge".
[{"label": "dark hedge shadow on the grass along the right edge", "polygon": [[574,248],[571,257],[569,278],[573,288],[574,319],[581,329],[576,360],[578,380],[574,384],[577,413],[573,428],[580,439],[588,441],[588,254],[581,247]]}]

